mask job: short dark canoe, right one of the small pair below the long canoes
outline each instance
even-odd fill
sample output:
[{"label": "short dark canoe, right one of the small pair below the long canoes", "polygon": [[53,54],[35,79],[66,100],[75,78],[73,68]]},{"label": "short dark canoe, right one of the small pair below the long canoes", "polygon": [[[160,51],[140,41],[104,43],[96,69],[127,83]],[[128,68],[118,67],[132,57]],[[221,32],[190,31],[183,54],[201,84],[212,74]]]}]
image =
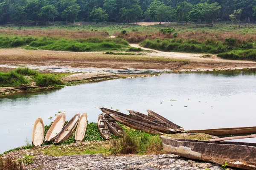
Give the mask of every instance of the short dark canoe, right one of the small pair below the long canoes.
[{"label": "short dark canoe, right one of the small pair below the long canoes", "polygon": [[103,119],[105,120],[108,129],[116,136],[122,137],[126,135],[125,131],[122,127],[116,123],[116,121],[111,118],[108,114],[102,113]]}]

